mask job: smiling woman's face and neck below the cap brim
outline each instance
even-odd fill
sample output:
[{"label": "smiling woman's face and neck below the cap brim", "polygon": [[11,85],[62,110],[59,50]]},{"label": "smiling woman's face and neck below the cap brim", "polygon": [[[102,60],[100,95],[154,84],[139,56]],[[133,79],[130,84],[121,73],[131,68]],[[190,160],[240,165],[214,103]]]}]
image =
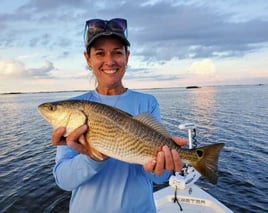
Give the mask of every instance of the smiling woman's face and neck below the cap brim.
[{"label": "smiling woman's face and neck below the cap brim", "polygon": [[129,51],[126,51],[120,39],[100,37],[94,42],[90,52],[85,52],[84,55],[97,78],[98,88],[114,89],[122,86]]}]

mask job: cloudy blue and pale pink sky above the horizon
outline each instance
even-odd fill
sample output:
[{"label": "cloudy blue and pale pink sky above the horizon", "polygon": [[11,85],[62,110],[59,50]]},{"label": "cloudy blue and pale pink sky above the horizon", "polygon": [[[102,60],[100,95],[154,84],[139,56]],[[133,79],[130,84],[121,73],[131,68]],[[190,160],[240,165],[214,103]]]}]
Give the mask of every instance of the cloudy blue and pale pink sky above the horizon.
[{"label": "cloudy blue and pale pink sky above the horizon", "polygon": [[268,83],[266,0],[1,0],[0,93],[89,90],[83,30],[128,21],[128,88]]}]

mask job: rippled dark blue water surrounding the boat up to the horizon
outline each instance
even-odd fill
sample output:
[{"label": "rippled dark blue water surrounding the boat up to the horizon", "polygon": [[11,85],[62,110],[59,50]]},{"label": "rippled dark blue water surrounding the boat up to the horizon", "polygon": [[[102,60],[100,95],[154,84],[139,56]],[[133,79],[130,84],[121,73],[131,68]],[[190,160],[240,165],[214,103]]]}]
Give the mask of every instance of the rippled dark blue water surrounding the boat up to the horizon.
[{"label": "rippled dark blue water surrounding the boat up to the horizon", "polygon": [[[268,209],[268,85],[186,90],[143,90],[157,97],[164,125],[187,137],[178,125],[197,125],[198,145],[225,143],[219,181],[198,185],[234,212]],[[52,176],[55,147],[51,128],[37,105],[78,92],[0,95],[0,212],[67,212],[70,193]]]}]

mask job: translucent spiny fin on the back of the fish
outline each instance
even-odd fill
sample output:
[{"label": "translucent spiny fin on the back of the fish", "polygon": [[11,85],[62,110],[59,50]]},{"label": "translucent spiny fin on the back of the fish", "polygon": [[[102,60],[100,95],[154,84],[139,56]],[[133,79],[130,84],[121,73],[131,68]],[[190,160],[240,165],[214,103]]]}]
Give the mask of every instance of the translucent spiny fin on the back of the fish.
[{"label": "translucent spiny fin on the back of the fish", "polygon": [[165,137],[171,138],[166,128],[158,120],[156,120],[156,118],[153,117],[153,115],[149,113],[142,113],[133,116],[133,119],[143,123],[146,126],[153,128],[154,130],[160,132]]}]

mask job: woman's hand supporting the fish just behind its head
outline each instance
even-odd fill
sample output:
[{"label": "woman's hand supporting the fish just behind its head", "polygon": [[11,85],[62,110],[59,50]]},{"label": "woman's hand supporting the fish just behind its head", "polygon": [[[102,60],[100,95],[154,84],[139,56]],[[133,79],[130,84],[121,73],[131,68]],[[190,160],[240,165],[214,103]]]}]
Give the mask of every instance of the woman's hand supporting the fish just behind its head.
[{"label": "woman's hand supporting the fish just behind its head", "polygon": [[88,126],[82,125],[77,129],[75,129],[73,132],[71,132],[71,134],[69,134],[65,138],[64,134],[66,132],[66,128],[59,127],[55,129],[54,132],[52,133],[51,143],[55,146],[68,145],[76,152],[88,155],[94,160],[97,161],[104,160],[105,158],[107,158],[105,155],[101,154],[96,150],[89,150],[90,147],[88,146],[85,137],[87,130]]}]

